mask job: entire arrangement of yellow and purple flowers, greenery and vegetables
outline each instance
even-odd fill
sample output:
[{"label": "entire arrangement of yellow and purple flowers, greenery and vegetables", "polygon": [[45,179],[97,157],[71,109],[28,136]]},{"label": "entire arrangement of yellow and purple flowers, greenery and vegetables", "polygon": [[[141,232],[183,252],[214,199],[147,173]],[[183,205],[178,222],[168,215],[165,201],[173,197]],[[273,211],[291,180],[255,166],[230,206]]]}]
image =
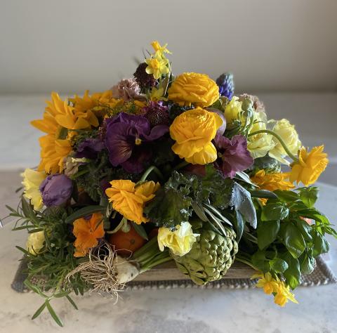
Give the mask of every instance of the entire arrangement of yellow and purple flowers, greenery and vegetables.
[{"label": "entire arrangement of yellow and purple flowers, greenery and vegetables", "polygon": [[[41,162],[26,169],[14,230],[27,229],[25,285],[59,325],[51,300],[87,291],[118,296],[166,261],[197,285],[234,261],[256,270],[279,306],[337,236],[312,187],[328,164],[256,96],[234,96],[232,74],[174,76],[152,42],[131,79],[103,93],[51,94],[32,125]],[[283,171],[282,171],[283,170]],[[298,187],[302,183],[304,187]]]}]

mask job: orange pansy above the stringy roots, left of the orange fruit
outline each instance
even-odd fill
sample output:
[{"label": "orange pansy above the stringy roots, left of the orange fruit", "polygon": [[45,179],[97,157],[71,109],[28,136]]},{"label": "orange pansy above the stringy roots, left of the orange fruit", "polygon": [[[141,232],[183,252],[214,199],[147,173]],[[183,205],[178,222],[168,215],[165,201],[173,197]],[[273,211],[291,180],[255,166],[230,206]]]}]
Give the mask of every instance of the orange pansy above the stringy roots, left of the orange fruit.
[{"label": "orange pansy above the stringy roots, left of the orange fruit", "polygon": [[98,238],[104,237],[105,234],[102,219],[102,214],[93,213],[89,220],[82,217],[74,221],[74,230],[72,231],[76,237],[74,256],[85,256],[89,249],[98,245]]}]

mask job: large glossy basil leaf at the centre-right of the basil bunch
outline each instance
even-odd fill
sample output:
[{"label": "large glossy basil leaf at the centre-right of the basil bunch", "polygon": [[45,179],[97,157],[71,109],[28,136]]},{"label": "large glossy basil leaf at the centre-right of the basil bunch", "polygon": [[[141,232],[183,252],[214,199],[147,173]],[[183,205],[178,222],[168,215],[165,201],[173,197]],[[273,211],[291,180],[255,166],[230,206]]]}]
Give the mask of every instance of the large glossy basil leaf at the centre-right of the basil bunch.
[{"label": "large glossy basil leaf at the centre-right of the basil bunch", "polygon": [[291,222],[286,223],[283,230],[283,244],[291,253],[293,258],[298,258],[305,250],[305,240],[300,230]]}]

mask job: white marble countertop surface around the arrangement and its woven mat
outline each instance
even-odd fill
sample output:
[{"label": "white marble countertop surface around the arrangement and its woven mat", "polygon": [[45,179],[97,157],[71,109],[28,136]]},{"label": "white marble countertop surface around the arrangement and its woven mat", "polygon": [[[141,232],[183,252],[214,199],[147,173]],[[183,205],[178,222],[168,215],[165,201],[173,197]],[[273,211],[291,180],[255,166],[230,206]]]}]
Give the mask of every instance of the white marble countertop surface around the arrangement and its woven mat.
[{"label": "white marble countertop surface around the arrangement and its woven mat", "polygon": [[[337,94],[260,94],[272,117],[286,117],[296,124],[305,145],[326,144],[330,169],[321,178],[336,183]],[[41,117],[48,96],[0,96],[0,216],[4,204],[17,201],[13,190],[18,176],[8,170],[34,166],[39,159],[37,138],[29,120]],[[15,135],[13,135],[15,133]],[[320,184],[317,207],[336,225],[337,188]],[[21,254],[15,244],[25,244],[25,232],[0,229],[0,332],[337,332],[337,285],[299,287],[298,305],[276,306],[260,289],[161,289],[124,292],[113,301],[98,295],[75,297],[79,311],[70,303],[53,301],[65,327],[58,327],[43,313],[32,321],[41,304],[36,294],[18,294],[11,289]],[[331,240],[329,266],[337,273],[337,241]]]}]

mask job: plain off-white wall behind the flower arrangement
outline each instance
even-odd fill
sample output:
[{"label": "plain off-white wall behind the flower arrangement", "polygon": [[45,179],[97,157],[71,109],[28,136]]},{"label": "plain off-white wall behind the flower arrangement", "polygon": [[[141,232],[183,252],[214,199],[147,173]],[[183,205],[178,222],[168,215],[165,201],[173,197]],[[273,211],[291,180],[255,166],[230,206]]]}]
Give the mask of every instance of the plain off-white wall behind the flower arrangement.
[{"label": "plain off-white wall behind the flower arrangement", "polygon": [[152,39],[239,91],[337,89],[337,0],[0,2],[0,93],[107,89]]}]

